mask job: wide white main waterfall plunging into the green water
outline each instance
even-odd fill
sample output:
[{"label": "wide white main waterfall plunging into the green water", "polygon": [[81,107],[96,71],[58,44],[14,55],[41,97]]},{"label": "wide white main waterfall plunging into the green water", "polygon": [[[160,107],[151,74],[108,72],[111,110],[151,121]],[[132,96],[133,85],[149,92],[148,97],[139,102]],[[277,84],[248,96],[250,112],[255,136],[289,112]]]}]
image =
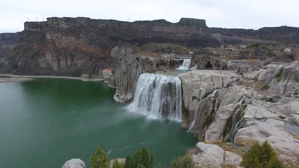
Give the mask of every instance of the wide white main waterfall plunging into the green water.
[{"label": "wide white main waterfall plunging into the green water", "polygon": [[137,80],[132,111],[150,117],[181,120],[181,81],[175,76],[143,73]]}]

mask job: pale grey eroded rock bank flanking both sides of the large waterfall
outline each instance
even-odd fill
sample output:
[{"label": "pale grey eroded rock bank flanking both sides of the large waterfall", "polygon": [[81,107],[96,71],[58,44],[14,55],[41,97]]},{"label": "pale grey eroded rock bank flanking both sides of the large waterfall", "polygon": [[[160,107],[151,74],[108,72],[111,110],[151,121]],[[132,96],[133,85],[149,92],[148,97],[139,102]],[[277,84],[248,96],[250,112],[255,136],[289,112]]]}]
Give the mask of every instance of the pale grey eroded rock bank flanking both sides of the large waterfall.
[{"label": "pale grey eroded rock bank flanking both sides of the large waterfall", "polygon": [[[193,65],[203,70],[177,75],[182,83],[182,125],[200,141],[193,155],[195,164],[221,167],[240,163],[239,152],[221,149],[220,145],[205,145],[203,141],[230,142],[250,148],[255,142],[266,140],[285,162],[298,163],[298,135],[285,127],[294,125],[299,129],[296,125],[299,118],[298,62],[261,69],[209,56],[196,57]],[[138,76],[163,69],[159,65],[155,59],[124,58],[114,72],[118,83],[115,99],[118,102],[132,100]],[[212,149],[216,152],[209,153]]]}]

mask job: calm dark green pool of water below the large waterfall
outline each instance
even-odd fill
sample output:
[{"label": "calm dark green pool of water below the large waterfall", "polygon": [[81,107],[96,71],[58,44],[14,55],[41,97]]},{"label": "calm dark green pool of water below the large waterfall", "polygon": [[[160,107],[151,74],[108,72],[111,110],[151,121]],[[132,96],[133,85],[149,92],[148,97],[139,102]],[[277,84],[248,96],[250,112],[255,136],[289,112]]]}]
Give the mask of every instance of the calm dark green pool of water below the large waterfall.
[{"label": "calm dark green pool of water below the large waterfall", "polygon": [[100,146],[109,159],[146,145],[156,163],[194,149],[192,133],[171,120],[127,112],[102,82],[34,79],[0,83],[0,167],[61,167]]}]

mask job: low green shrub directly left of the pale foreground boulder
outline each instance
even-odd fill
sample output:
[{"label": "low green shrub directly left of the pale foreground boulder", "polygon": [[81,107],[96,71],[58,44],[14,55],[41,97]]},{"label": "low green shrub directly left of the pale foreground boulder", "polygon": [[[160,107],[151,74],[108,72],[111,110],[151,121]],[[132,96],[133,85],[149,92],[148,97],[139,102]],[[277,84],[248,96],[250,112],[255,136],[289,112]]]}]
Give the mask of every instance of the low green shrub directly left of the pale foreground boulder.
[{"label": "low green shrub directly left of the pale foreground boulder", "polygon": [[170,168],[193,168],[194,163],[191,155],[186,154],[183,157],[179,156],[170,161]]}]

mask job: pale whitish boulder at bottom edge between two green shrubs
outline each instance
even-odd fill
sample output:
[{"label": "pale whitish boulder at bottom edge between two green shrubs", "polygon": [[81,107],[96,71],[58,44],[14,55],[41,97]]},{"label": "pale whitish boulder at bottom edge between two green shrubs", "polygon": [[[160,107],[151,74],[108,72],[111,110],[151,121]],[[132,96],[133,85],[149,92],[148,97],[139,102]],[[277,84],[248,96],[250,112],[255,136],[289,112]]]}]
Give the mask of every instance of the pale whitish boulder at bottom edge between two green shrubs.
[{"label": "pale whitish boulder at bottom edge between two green shrubs", "polygon": [[239,167],[242,157],[217,145],[199,142],[196,144],[193,160],[196,167],[225,167],[230,164]]}]

